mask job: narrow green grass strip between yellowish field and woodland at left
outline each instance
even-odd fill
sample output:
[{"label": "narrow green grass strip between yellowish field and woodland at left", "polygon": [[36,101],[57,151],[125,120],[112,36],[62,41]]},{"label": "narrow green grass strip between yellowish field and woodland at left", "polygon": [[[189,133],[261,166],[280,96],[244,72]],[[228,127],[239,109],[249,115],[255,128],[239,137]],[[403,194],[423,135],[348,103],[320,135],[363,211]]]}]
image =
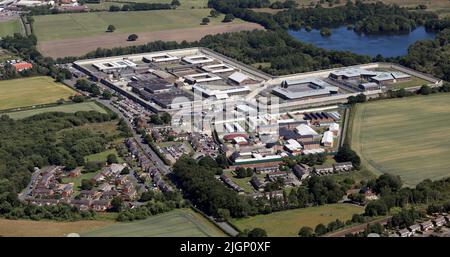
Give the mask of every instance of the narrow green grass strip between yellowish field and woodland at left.
[{"label": "narrow green grass strip between yellowish field and woodland at left", "polygon": [[[101,113],[106,113],[105,109],[98,106],[95,102],[84,102],[84,103],[70,103],[63,105],[56,105],[52,107],[44,107],[44,108],[35,108],[24,111],[15,111],[5,113],[12,119],[23,119],[26,117],[30,117],[36,114],[45,113],[45,112],[66,112],[66,113],[74,113],[78,111],[97,111]],[[97,125],[97,123],[95,123]]]}]

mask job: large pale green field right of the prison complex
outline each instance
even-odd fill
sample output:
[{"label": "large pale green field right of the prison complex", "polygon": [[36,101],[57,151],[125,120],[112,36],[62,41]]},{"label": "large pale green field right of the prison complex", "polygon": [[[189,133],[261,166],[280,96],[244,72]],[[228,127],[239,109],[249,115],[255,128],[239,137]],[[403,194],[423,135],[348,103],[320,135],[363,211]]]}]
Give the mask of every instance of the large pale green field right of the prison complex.
[{"label": "large pale green field right of the prison complex", "polygon": [[359,104],[353,116],[351,145],[365,168],[409,186],[450,176],[450,95]]}]

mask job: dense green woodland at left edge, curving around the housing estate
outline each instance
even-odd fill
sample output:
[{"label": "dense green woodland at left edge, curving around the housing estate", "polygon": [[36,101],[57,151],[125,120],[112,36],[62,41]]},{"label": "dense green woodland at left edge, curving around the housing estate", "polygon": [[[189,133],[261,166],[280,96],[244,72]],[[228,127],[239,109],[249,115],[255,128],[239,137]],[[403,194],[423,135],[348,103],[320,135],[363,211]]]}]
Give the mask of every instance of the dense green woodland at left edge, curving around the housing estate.
[{"label": "dense green woodland at left edge, curving around the housing estate", "polygon": [[[90,217],[73,208],[27,207],[17,194],[30,181],[34,167],[84,165],[84,157],[105,150],[113,138],[78,127],[116,119],[112,113],[44,113],[22,120],[0,117],[0,215],[9,218],[76,219]],[[78,128],[78,129],[71,129]],[[33,217],[32,217],[33,216]]]}]

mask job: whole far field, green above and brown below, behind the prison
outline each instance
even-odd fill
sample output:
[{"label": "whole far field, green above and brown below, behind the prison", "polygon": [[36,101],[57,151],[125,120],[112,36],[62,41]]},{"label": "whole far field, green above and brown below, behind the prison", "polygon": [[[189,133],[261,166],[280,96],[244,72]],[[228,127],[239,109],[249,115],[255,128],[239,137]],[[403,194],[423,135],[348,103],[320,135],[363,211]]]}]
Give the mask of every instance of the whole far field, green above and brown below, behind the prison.
[{"label": "whole far field, green above and brown below, behind the prison", "polygon": [[[222,23],[223,15],[201,25],[211,9],[153,10],[138,12],[91,12],[35,17],[39,49],[51,57],[86,54],[98,47],[112,48],[150,41],[195,41],[208,34],[261,29],[262,26],[235,19]],[[106,32],[108,25],[116,30]],[[64,30],[59,29],[61,26]],[[138,40],[127,41],[131,33]],[[82,47],[80,47],[82,46]]]}]

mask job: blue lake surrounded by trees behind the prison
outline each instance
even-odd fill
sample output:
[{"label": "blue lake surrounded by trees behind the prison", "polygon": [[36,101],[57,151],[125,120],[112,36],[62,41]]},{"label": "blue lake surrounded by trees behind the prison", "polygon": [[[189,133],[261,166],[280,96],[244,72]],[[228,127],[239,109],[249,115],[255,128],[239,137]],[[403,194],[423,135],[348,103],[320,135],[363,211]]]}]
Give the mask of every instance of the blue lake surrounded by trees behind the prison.
[{"label": "blue lake surrounded by trees behind the prison", "polygon": [[356,54],[384,57],[406,55],[408,47],[418,40],[434,39],[436,33],[427,32],[425,27],[417,27],[409,34],[398,35],[366,35],[348,30],[347,26],[331,29],[330,37],[322,37],[320,30],[306,32],[289,30],[294,38],[313,44],[320,48],[340,51],[350,51]]}]

